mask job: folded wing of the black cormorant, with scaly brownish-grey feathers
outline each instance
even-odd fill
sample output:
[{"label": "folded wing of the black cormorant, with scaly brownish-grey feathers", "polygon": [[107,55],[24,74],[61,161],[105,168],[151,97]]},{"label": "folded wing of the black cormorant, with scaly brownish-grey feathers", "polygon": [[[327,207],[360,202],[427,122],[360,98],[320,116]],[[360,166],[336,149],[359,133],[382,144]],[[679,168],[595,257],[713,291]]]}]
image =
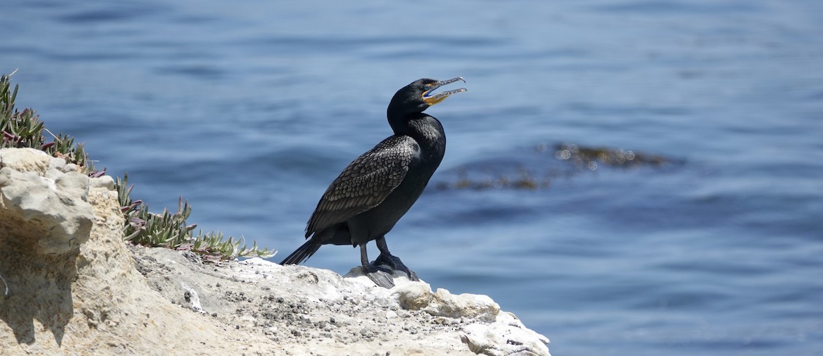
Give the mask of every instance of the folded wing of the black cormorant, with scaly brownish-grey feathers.
[{"label": "folded wing of the black cormorant, with scaly brownish-grey feathers", "polygon": [[391,136],[351,162],[332,182],[306,224],[306,238],[378,206],[398,187],[420,146],[409,136]]}]

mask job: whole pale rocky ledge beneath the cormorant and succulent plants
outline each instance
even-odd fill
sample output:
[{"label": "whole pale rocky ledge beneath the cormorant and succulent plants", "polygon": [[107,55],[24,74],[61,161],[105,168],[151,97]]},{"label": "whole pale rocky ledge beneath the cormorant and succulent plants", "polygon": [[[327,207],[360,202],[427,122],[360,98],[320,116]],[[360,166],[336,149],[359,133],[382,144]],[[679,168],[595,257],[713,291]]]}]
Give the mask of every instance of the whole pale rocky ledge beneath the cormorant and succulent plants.
[{"label": "whole pale rocky ledge beneath the cormorant and succulent plants", "polygon": [[128,246],[112,178],[0,150],[0,354],[549,354],[491,298],[394,282]]}]

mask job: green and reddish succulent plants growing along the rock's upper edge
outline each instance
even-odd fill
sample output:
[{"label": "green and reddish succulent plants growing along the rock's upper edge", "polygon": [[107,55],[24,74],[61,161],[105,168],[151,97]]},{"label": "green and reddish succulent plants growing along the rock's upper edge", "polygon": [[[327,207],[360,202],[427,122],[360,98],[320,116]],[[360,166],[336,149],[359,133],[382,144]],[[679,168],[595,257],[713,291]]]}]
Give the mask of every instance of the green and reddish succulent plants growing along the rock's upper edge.
[{"label": "green and reddish succulent plants growing along the rock's upper edge", "polygon": [[[14,73],[12,73],[14,74]],[[82,173],[91,177],[105,174],[97,171],[89,160],[82,144],[75,144],[71,136],[53,135],[46,129],[43,122],[32,109],[19,111],[14,107],[18,86],[12,85],[9,76],[0,76],[0,148],[35,148],[43,150],[53,157],[63,158],[69,163],[77,164]],[[47,142],[43,132],[49,133],[53,141]],[[252,247],[244,243],[243,238],[229,237],[225,239],[223,233],[193,230],[197,224],[187,224],[188,215],[192,206],[180,197],[177,211],[163,209],[160,214],[149,211],[146,204],[140,200],[133,201],[129,194],[134,185],[128,186],[128,174],[117,178],[116,183],[120,211],[125,216],[123,232],[126,241],[149,247],[168,247],[175,250],[189,250],[198,253],[203,261],[226,261],[237,257],[272,257],[275,252],[267,248],[258,247],[254,242]],[[242,245],[242,246],[241,246]]]}]

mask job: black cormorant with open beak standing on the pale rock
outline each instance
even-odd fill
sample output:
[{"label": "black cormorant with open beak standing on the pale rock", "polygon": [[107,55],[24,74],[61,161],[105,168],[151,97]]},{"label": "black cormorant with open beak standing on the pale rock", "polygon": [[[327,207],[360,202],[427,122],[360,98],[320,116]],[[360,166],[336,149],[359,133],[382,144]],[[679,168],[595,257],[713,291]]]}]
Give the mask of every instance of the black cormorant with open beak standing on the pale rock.
[{"label": "black cormorant with open beak standing on the pale rock", "polygon": [[[360,264],[366,275],[384,287],[393,284],[377,271],[406,272],[416,275],[398,257],[388,252],[385,235],[421,195],[429,178],[443,160],[446,135],[440,122],[423,113],[449,95],[466,91],[457,89],[434,93],[434,90],[455,81],[420,79],[402,87],[388,103],[388,124],[394,135],[360,155],[343,169],[332,182],[306,225],[309,241],[297,248],[281,265],[296,265],[307,260],[320,246],[360,246]],[[465,81],[464,81],[465,82]],[[366,243],[376,240],[380,256],[369,263]],[[381,283],[382,281],[382,283]]]}]

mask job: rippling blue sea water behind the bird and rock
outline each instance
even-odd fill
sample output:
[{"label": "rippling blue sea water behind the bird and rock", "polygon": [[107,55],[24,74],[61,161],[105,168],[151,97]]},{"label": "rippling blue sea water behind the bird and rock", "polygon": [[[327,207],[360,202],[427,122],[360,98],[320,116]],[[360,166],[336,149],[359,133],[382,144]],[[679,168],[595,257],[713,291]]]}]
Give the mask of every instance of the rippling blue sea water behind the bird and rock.
[{"label": "rippling blue sea water behind the bird and rock", "polygon": [[[388,236],[424,280],[491,295],[556,355],[823,354],[818,0],[6,0],[0,27],[19,106],[152,210],[185,196],[275,261],[390,134],[395,90],[464,76],[429,110],[445,160]],[[569,169],[560,142],[680,164]],[[438,188],[461,167],[554,179]]]}]

